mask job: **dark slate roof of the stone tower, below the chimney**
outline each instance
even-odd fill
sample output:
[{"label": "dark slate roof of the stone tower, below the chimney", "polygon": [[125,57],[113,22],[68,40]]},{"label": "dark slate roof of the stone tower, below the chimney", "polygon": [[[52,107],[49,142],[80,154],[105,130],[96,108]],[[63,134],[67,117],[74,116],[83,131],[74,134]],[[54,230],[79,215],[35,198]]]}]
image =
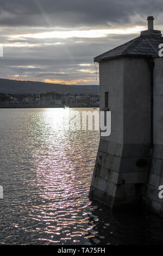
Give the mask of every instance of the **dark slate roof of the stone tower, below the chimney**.
[{"label": "dark slate roof of the stone tower, below the chimney", "polygon": [[119,56],[158,56],[159,44],[163,44],[163,37],[160,31],[143,31],[137,38],[126,42],[108,52],[94,58],[95,62],[116,58]]}]

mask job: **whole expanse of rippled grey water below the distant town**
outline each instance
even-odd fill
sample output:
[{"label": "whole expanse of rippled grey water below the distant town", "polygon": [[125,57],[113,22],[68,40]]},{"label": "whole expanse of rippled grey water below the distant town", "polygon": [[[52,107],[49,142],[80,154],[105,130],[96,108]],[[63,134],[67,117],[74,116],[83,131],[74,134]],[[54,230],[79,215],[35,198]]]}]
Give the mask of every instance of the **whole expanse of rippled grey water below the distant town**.
[{"label": "whole expanse of rippled grey water below the distant town", "polygon": [[0,244],[162,243],[159,217],[90,201],[99,131],[61,129],[65,111],[0,109]]}]

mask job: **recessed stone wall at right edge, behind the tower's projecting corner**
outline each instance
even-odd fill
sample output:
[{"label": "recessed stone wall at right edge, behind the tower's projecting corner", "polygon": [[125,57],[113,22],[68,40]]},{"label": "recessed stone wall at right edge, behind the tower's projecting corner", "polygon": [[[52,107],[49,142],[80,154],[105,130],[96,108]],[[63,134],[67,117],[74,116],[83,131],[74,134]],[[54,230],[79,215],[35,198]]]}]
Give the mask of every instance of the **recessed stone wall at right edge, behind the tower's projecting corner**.
[{"label": "recessed stone wall at right edge, behind the tower's projecting corner", "polygon": [[163,58],[154,59],[153,154],[147,177],[145,202],[163,216],[163,199],[159,186],[163,185]]}]

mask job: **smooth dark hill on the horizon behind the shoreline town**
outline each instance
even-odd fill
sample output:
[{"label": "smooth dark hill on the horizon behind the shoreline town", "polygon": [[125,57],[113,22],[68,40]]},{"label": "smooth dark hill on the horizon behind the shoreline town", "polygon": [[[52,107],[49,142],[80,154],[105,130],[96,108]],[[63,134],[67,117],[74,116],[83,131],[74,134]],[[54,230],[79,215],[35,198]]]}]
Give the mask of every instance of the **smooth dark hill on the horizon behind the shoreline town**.
[{"label": "smooth dark hill on the horizon behind the shoreline town", "polygon": [[62,94],[98,93],[99,86],[77,86],[53,84],[34,81],[17,81],[0,78],[0,93],[5,94],[38,94],[56,92]]}]

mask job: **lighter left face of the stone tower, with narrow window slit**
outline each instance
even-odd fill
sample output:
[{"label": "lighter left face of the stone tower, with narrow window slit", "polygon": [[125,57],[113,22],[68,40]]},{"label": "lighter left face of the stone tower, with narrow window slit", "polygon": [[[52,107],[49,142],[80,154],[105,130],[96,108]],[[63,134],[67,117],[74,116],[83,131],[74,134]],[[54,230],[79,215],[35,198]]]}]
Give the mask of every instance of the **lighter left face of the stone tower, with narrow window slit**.
[{"label": "lighter left face of the stone tower, with narrow window slit", "polygon": [[100,110],[105,109],[105,92],[108,92],[111,135],[100,139],[90,196],[110,207],[114,204],[123,145],[123,69],[123,59],[99,65]]}]

